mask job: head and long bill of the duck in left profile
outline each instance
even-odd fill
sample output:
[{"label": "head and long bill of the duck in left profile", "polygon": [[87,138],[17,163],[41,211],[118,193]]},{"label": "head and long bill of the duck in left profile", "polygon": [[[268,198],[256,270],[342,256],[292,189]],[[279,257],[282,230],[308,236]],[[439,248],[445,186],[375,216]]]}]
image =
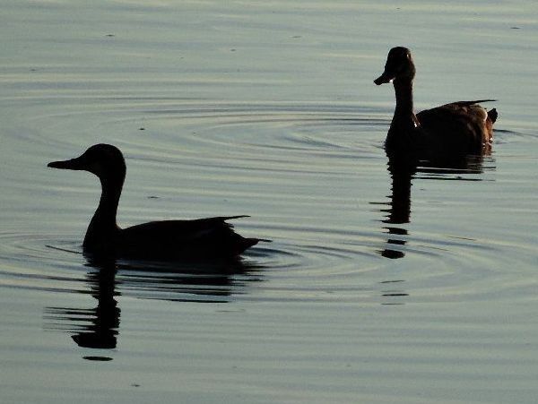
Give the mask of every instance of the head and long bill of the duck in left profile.
[{"label": "head and long bill of the duck in left profile", "polygon": [[47,167],[89,171],[98,176],[101,183],[108,180],[123,182],[126,176],[123,154],[116,146],[104,143],[94,144],[75,159],[53,161]]}]

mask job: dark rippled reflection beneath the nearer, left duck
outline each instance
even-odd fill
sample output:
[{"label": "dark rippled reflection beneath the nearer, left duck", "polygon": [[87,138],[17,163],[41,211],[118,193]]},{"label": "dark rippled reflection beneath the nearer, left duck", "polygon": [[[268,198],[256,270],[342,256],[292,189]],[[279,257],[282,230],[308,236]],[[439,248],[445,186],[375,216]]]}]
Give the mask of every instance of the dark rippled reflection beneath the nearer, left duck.
[{"label": "dark rippled reflection beneath the nearer, left duck", "polygon": [[[208,262],[190,265],[178,262],[166,266],[156,262],[126,262],[86,257],[86,290],[74,293],[90,294],[97,305],[82,309],[47,307],[45,319],[49,331],[72,333],[74,342],[82,348],[112,349],[117,347],[121,310],[117,297],[131,297],[189,302],[228,302],[246,280],[260,280],[253,276],[256,264]],[[107,357],[86,357],[109,360]]]}]

